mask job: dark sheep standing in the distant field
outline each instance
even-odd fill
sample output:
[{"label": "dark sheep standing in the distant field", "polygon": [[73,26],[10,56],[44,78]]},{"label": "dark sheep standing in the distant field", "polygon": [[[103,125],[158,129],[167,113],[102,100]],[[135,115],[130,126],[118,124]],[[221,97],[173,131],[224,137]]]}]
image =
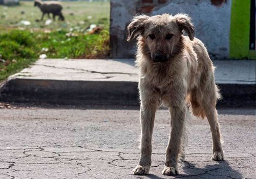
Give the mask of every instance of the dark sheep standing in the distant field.
[{"label": "dark sheep standing in the distant field", "polygon": [[57,1],[48,1],[48,2],[42,2],[40,0],[35,0],[34,6],[37,6],[41,12],[41,20],[44,19],[45,14],[47,13],[48,18],[50,18],[50,13],[53,14],[53,19],[55,20],[55,16],[58,15],[59,18],[58,20],[64,20],[64,16],[61,13],[62,6],[59,2]]}]

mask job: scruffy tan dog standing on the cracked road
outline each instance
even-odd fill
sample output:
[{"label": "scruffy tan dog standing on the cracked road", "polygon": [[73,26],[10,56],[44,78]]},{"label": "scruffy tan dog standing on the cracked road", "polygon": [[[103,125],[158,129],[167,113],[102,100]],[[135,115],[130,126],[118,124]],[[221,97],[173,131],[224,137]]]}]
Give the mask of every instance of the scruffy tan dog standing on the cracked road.
[{"label": "scruffy tan dog standing on the cracked road", "polygon": [[[187,106],[196,117],[207,118],[212,133],[212,160],[224,160],[216,102],[214,66],[204,44],[194,37],[185,14],[135,16],[127,27],[130,41],[137,37],[136,64],[140,70],[141,152],[136,175],[151,166],[152,132],[160,101],[169,107],[171,131],[166,149],[164,175],[178,174],[179,155],[184,156]],[[185,31],[188,36],[183,35]]]}]

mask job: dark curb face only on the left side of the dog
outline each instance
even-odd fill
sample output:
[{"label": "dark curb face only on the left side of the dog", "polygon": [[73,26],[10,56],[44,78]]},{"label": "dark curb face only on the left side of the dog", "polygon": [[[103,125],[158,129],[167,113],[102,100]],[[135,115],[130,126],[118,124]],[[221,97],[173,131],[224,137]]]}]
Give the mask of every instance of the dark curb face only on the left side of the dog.
[{"label": "dark curb face only on the left side of the dog", "polygon": [[138,83],[11,79],[1,89],[4,102],[62,105],[138,105]]}]

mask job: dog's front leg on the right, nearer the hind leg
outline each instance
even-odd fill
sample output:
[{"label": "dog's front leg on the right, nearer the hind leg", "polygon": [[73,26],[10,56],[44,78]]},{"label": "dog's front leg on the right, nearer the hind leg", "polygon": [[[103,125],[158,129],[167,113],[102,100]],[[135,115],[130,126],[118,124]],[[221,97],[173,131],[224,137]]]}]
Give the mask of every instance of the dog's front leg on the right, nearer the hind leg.
[{"label": "dog's front leg on the right, nearer the hind leg", "polygon": [[181,137],[183,135],[184,120],[186,114],[185,105],[171,106],[169,108],[171,116],[171,131],[169,143],[166,149],[165,166],[162,171],[164,175],[176,175],[178,172],[178,155],[181,149]]}]

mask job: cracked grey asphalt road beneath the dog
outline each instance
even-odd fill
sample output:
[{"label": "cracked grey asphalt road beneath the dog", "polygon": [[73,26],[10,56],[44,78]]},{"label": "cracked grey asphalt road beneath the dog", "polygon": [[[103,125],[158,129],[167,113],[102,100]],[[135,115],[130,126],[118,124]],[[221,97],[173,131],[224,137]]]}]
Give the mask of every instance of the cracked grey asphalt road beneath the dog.
[{"label": "cracked grey asphalt road beneath the dog", "polygon": [[[11,107],[8,107],[11,108]],[[158,110],[150,175],[139,159],[137,108],[0,109],[0,178],[256,178],[255,109],[219,109],[225,161],[211,160],[207,120],[189,117],[186,162],[164,176],[167,110]]]}]

